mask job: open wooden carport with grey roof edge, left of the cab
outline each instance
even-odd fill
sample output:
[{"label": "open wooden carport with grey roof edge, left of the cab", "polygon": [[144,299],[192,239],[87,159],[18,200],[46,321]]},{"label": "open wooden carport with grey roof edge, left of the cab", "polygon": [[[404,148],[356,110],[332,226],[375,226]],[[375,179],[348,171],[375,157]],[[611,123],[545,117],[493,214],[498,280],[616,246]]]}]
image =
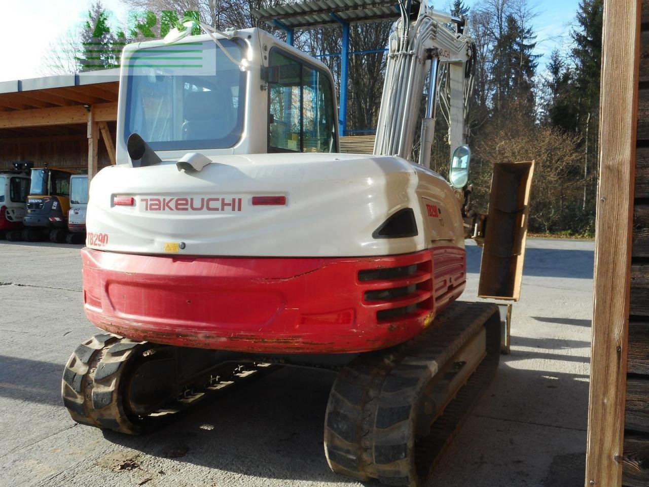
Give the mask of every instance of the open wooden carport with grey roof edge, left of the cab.
[{"label": "open wooden carport with grey roof edge, left of the cab", "polygon": [[0,82],[0,169],[115,164],[118,92],[119,69]]}]

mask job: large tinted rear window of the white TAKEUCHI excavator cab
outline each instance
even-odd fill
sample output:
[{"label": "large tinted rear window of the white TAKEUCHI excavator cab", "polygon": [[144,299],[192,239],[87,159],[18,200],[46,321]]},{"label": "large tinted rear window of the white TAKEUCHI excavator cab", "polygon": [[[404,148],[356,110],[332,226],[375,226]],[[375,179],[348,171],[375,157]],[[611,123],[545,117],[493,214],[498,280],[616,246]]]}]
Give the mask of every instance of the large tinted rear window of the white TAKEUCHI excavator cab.
[{"label": "large tinted rear window of the white TAKEUCHI excavator cab", "polygon": [[[241,59],[241,41],[221,44]],[[245,73],[211,40],[137,51],[127,83],[125,141],[137,132],[154,151],[175,151],[223,149],[241,138]]]}]

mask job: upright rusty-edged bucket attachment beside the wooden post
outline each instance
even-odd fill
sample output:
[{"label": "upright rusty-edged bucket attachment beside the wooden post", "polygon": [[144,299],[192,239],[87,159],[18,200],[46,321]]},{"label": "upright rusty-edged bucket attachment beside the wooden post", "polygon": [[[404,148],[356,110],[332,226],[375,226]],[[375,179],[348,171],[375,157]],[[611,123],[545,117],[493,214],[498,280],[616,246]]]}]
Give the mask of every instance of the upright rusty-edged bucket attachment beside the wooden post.
[{"label": "upright rusty-edged bucket attachment beside the wooden post", "polygon": [[495,164],[478,296],[518,301],[534,161]]}]

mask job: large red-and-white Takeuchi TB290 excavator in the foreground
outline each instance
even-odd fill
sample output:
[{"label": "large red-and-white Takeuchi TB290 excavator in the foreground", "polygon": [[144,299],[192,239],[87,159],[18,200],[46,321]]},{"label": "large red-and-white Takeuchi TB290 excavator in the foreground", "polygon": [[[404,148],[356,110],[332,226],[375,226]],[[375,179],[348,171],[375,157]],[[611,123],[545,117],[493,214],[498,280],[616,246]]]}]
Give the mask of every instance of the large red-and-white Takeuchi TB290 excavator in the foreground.
[{"label": "large red-and-white Takeuchi TB290 excavator in the foreground", "polygon": [[[426,481],[498,367],[498,306],[458,301],[465,237],[484,239],[482,294],[518,299],[533,164],[495,168],[489,213],[471,207],[471,36],[399,5],[373,155],[339,153],[332,73],[262,29],[184,18],[125,47],[81,251],[101,332],[62,379],[74,421],[141,434],[278,366],[332,369],[330,468]],[[188,42],[202,64],[169,66]],[[449,181],[429,168],[438,104]]]}]

